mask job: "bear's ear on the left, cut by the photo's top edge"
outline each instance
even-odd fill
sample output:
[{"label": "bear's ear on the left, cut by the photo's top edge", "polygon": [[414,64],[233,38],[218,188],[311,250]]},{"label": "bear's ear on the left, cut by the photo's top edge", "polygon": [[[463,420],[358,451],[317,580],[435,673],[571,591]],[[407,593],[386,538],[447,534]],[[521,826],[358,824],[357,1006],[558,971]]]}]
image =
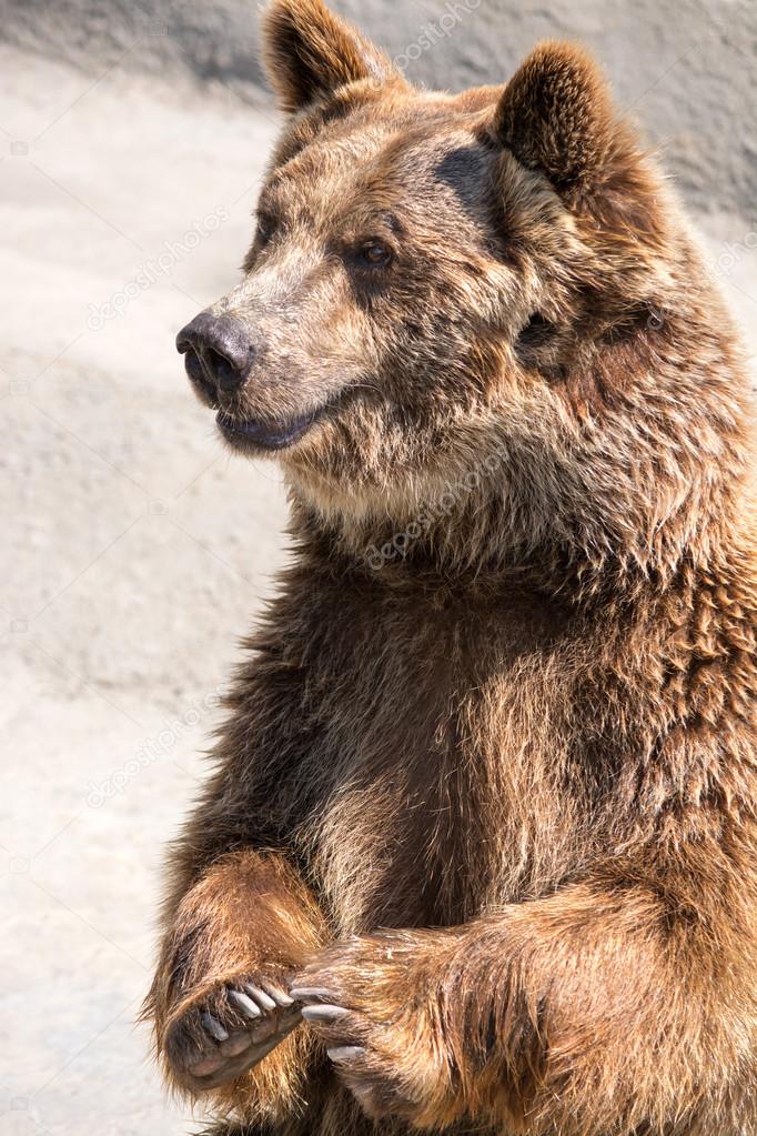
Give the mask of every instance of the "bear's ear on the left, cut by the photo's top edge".
[{"label": "bear's ear on the left, cut by the photo's top edge", "polygon": [[321,0],[272,0],[263,42],[268,77],[284,110],[301,110],[345,83],[396,75],[386,56]]}]

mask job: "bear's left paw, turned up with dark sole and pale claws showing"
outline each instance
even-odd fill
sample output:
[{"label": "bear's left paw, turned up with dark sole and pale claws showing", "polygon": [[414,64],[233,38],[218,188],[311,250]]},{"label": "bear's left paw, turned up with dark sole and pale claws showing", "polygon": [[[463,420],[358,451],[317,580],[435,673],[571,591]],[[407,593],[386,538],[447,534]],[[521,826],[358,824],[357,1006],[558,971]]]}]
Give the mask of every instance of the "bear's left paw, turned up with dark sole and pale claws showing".
[{"label": "bear's left paw, turned up with dark sole and pale claws showing", "polygon": [[286,991],[245,976],[218,985],[184,1009],[166,1035],[166,1059],[193,1093],[241,1077],[276,1049],[302,1019]]}]

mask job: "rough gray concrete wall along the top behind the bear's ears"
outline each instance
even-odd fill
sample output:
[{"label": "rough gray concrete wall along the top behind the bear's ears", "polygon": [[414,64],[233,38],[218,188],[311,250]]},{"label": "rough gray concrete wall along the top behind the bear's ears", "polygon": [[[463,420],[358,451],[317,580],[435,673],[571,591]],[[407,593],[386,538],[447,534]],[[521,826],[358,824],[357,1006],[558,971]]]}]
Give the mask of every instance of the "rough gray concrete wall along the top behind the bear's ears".
[{"label": "rough gray concrete wall along the top behind the bear's ears", "polygon": [[[582,40],[605,65],[620,105],[662,145],[690,202],[752,211],[752,0],[335,0],[334,8],[431,86],[502,82],[536,40]],[[0,36],[93,78],[110,66],[185,72],[266,100],[258,12],[243,0],[3,0],[0,12]]]}]

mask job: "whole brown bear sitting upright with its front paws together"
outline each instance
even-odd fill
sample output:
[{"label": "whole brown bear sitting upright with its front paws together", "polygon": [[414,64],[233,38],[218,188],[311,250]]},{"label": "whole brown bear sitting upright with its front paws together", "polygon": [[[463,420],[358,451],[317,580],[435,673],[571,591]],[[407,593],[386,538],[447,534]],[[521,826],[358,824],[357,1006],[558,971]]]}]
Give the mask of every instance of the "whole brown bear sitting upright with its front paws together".
[{"label": "whole brown bear sitting upright with its front paws together", "polygon": [[244,1136],[757,1133],[749,383],[597,66],[415,90],[275,0],[242,283],[178,337],[293,561],[145,1014]]}]

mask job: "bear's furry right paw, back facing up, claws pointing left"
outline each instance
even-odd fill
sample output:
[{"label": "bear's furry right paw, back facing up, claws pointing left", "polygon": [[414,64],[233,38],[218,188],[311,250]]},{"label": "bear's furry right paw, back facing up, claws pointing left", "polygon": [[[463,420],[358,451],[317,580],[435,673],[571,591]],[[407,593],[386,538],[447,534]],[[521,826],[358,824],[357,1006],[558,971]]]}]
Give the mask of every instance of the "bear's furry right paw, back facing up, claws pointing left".
[{"label": "bear's furry right paw, back facing up, claws pointing left", "polygon": [[317,955],[289,993],[369,1117],[443,1127],[459,1113],[452,1062],[417,963],[407,936],[355,938]]}]

